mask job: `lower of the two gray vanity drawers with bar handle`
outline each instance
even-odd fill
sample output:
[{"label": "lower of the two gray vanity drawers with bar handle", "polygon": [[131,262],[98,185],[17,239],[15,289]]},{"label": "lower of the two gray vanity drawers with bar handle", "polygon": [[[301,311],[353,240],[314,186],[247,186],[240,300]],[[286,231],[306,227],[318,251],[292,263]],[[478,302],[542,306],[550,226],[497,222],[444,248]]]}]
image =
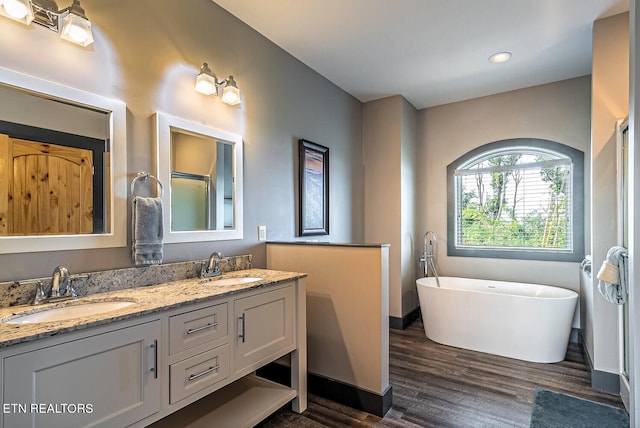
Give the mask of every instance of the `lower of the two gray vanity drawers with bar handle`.
[{"label": "lower of the two gray vanity drawers with bar handle", "polygon": [[229,376],[229,345],[222,345],[169,366],[170,404],[225,380]]}]

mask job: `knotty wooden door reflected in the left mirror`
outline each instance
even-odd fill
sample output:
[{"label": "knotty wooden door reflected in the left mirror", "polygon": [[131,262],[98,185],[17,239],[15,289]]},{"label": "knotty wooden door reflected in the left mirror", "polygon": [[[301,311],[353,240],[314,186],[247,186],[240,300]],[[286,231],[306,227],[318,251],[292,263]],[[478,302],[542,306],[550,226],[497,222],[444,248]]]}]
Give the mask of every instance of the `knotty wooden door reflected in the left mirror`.
[{"label": "knotty wooden door reflected in the left mirror", "polygon": [[0,234],[93,233],[90,150],[0,134]]}]

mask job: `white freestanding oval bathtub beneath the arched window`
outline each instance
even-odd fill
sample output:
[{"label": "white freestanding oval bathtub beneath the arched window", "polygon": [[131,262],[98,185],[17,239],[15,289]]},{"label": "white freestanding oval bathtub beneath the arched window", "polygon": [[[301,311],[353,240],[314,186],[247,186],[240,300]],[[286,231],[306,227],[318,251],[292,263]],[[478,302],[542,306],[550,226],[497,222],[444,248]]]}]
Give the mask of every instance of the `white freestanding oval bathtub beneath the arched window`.
[{"label": "white freestanding oval bathtub beneath the arched window", "polygon": [[548,285],[440,277],[416,281],[435,342],[525,361],[564,360],[578,294]]}]

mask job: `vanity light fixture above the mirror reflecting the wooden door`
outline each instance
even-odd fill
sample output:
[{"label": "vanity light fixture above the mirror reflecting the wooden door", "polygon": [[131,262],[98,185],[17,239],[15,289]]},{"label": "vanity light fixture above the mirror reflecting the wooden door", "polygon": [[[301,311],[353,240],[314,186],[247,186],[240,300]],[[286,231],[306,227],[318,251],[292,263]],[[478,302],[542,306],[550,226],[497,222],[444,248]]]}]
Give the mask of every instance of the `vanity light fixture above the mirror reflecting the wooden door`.
[{"label": "vanity light fixture above the mirror reflecting the wooden door", "polygon": [[71,6],[62,10],[58,10],[54,0],[0,0],[0,15],[25,25],[35,22],[82,47],[93,43],[91,22],[79,0],[73,0]]}]

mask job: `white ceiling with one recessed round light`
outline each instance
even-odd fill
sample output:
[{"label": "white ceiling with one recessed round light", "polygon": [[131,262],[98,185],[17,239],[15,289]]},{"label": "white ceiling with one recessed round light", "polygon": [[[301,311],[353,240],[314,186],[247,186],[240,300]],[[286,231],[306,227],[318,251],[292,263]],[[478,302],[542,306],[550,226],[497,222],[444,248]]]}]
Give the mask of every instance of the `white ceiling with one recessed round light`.
[{"label": "white ceiling with one recessed round light", "polygon": [[[213,0],[362,102],[424,108],[591,73],[629,0]],[[492,64],[493,53],[510,61]]]}]

